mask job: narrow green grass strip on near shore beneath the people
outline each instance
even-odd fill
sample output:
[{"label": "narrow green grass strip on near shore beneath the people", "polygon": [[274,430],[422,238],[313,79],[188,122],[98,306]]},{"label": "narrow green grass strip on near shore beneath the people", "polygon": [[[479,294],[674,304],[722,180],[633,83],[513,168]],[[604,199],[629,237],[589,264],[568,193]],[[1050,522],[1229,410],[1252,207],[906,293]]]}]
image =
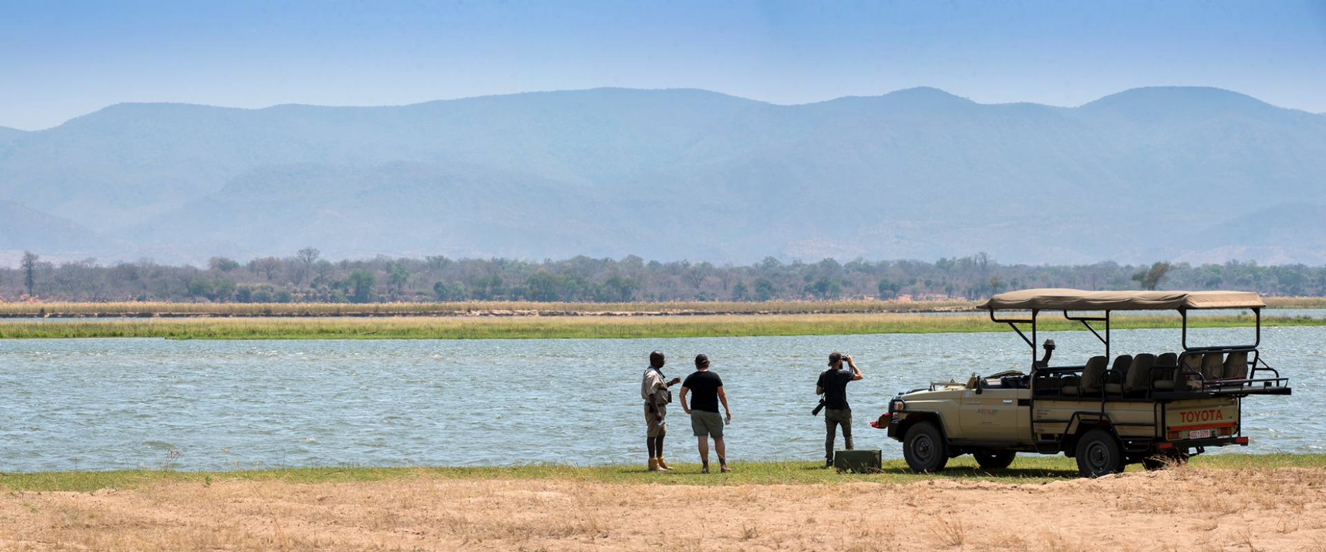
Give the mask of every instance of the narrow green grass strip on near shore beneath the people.
[{"label": "narrow green grass strip on near shore beneath the people", "polygon": [[[688,451],[692,453],[692,451]],[[1208,454],[1195,457],[1197,469],[1326,467],[1326,454]],[[983,470],[971,457],[959,457],[940,474],[918,474],[903,461],[886,461],[879,474],[839,474],[821,462],[733,462],[731,474],[700,474],[697,463],[672,462],[674,471],[647,471],[644,466],[575,467],[561,465],[518,467],[304,467],[240,471],[38,471],[0,474],[9,491],[77,491],[135,488],[160,482],[212,484],[223,481],[280,481],[288,483],[343,483],[402,479],[556,479],[611,484],[841,484],[851,482],[911,483],[924,479],[972,479],[1000,483],[1042,483],[1078,477],[1071,458],[1018,457],[1004,470]],[[1128,466],[1140,471],[1142,466]],[[715,466],[715,471],[717,471]]]}]

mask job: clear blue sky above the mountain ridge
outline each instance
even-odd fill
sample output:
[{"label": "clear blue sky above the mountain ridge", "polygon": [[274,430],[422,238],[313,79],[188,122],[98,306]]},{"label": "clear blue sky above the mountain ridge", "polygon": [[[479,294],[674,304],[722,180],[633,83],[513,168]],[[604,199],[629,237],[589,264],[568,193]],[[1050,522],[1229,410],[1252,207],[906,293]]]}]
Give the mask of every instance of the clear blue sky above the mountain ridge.
[{"label": "clear blue sky above the mountain ridge", "polygon": [[119,102],[375,106],[623,86],[806,103],[935,86],[1078,106],[1166,85],[1326,113],[1326,0],[0,0],[0,126],[24,130]]}]

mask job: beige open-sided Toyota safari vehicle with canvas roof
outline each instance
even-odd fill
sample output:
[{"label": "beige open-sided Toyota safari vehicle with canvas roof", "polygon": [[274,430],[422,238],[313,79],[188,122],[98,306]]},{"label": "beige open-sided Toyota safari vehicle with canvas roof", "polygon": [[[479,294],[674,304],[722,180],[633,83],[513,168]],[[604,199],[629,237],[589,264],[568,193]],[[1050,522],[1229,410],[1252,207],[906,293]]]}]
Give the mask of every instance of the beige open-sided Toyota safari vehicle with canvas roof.
[{"label": "beige open-sided Toyota safari vehicle with canvas roof", "polygon": [[[1128,463],[1152,470],[1184,462],[1209,446],[1246,446],[1240,424],[1244,397],[1290,394],[1289,379],[1266,365],[1257,349],[1262,307],[1257,294],[1241,291],[997,294],[979,308],[1026,342],[1032,351],[1028,372],[973,373],[967,381],[899,393],[876,426],[887,426],[888,437],[902,441],[907,465],[926,473],[943,470],[961,454],[972,454],[981,467],[1001,469],[1017,453],[1063,453],[1077,458],[1082,477],[1101,477],[1123,471]],[[1188,311],[1199,308],[1252,310],[1256,342],[1189,345]],[[1148,310],[1179,311],[1181,351],[1111,357],[1110,314]],[[1054,342],[1048,339],[1038,360],[1042,311],[1062,311],[1082,323],[1103,344],[1105,355],[1081,365],[1052,367]]]}]

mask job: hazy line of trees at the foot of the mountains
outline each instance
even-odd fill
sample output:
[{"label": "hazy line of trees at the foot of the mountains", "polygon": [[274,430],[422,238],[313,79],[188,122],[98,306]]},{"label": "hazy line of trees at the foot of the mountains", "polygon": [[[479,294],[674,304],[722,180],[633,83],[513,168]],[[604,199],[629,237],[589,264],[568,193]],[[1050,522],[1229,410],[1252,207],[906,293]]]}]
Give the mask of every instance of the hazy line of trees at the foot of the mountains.
[{"label": "hazy line of trees at the foot of the mountains", "polygon": [[330,261],[314,248],[289,257],[239,262],[213,257],[206,267],[86,258],[58,265],[25,252],[0,269],[0,300],[171,300],[243,303],[369,302],[671,302],[806,299],[981,299],[1030,287],[1085,290],[1244,290],[1266,295],[1326,295],[1326,267],[1262,266],[1256,261],[1119,265],[1002,265],[987,253],[935,262],[895,259],[745,265],[573,257],[522,261],[443,255]]}]

